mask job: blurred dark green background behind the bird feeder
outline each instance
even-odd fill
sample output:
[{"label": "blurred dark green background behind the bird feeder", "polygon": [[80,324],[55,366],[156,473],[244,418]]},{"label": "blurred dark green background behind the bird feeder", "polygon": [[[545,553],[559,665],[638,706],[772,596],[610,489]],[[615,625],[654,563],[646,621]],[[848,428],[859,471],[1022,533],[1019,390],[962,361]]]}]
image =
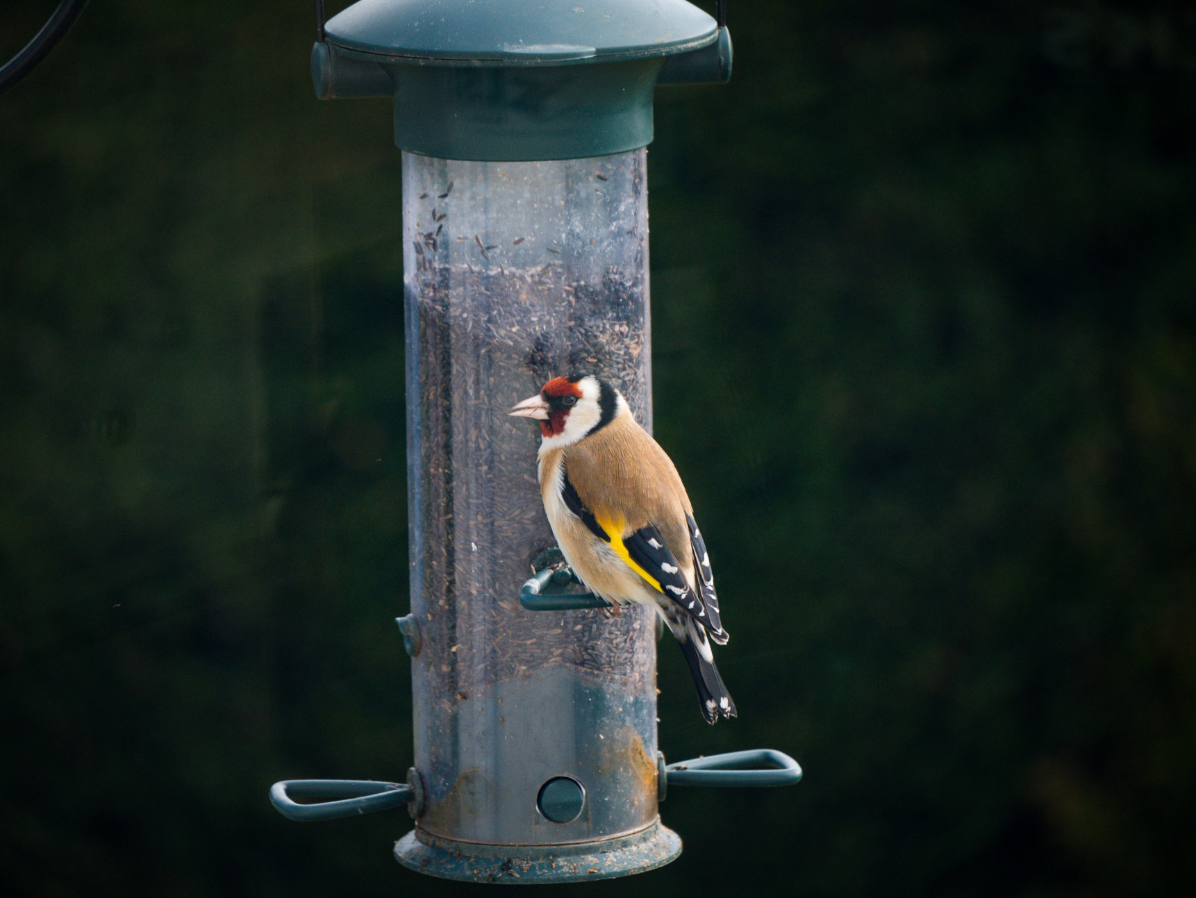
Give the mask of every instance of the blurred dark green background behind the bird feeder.
[{"label": "blurred dark green background behind the bird feeder", "polygon": [[[8,893],[476,893],[391,860],[401,813],[267,802],[410,760],[399,160],[385,100],[313,98],[310,7],[92,0],[0,98]],[[649,166],[657,434],[740,716],[663,643],[660,743],[806,778],[677,789],[681,860],[578,888],[1184,891],[1196,18],[730,23]]]}]

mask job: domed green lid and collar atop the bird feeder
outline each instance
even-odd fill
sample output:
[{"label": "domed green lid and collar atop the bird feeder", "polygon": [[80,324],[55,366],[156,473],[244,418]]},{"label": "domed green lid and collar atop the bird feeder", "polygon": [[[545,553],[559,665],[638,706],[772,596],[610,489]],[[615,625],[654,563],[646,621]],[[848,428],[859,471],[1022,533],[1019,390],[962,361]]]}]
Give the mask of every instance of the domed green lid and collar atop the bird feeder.
[{"label": "domed green lid and collar atop the bird feeder", "polygon": [[658,77],[731,74],[726,28],[685,0],[359,0],[324,31],[317,96],[392,96],[395,142],[446,159],[635,149]]}]

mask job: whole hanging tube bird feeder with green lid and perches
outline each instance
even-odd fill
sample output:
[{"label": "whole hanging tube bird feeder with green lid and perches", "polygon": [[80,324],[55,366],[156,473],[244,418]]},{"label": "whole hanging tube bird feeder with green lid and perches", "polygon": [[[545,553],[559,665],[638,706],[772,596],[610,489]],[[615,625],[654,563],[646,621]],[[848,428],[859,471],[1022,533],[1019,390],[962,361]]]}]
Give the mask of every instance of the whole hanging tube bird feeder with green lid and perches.
[{"label": "whole hanging tube bird feeder with green lid and perches", "polygon": [[768,750],[665,765],[654,617],[579,593],[536,485],[539,438],[506,411],[587,371],[651,430],[653,92],[727,80],[730,35],[684,0],[360,0],[319,38],[317,94],[392,97],[403,151],[398,624],[415,751],[405,783],[288,781],[271,800],[300,820],[405,804],[415,829],[397,860],[448,879],[659,867],[681,853],[658,814],[667,787],[785,784],[800,769]]}]

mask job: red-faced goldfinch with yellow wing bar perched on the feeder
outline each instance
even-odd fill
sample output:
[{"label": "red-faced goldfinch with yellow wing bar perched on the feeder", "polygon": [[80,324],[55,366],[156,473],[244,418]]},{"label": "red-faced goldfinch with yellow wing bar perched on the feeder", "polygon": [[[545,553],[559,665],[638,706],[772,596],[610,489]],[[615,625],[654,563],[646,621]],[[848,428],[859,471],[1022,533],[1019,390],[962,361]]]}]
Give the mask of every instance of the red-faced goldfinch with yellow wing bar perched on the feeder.
[{"label": "red-faced goldfinch with yellow wing bar perched on the feeder", "polygon": [[509,414],[539,422],[539,491],[569,567],[616,607],[655,610],[681,645],[707,722],[736,716],[710,650],[727,641],[710,557],[672,460],[618,390],[592,374],[549,380]]}]

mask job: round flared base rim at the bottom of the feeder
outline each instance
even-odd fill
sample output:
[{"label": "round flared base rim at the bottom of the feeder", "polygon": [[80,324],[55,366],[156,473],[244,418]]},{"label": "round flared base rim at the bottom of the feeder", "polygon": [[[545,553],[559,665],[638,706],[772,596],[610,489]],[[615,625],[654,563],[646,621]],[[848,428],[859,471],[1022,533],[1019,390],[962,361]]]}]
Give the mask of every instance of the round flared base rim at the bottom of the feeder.
[{"label": "round flared base rim at the bottom of the feeder", "polygon": [[645,873],[681,854],[681,836],[659,820],[631,836],[574,845],[483,845],[413,830],[395,843],[404,867],[465,882],[584,882]]}]

